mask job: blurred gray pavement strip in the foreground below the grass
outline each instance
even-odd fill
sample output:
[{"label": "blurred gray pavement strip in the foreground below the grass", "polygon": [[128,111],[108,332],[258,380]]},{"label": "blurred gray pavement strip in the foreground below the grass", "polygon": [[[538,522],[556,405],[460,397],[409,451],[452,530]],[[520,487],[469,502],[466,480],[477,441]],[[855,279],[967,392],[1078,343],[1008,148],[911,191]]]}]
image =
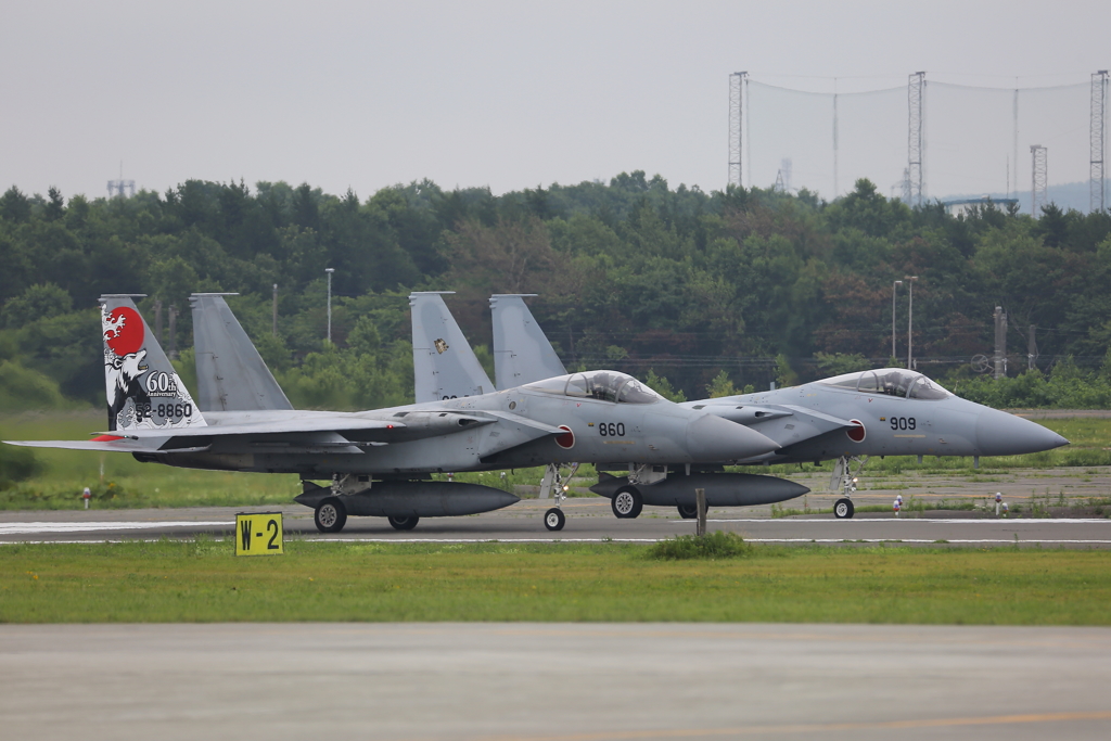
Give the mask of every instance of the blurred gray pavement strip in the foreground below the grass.
[{"label": "blurred gray pavement strip in the foreground below the grass", "polygon": [[1107,739],[1109,684],[1095,628],[0,625],[11,739]]}]

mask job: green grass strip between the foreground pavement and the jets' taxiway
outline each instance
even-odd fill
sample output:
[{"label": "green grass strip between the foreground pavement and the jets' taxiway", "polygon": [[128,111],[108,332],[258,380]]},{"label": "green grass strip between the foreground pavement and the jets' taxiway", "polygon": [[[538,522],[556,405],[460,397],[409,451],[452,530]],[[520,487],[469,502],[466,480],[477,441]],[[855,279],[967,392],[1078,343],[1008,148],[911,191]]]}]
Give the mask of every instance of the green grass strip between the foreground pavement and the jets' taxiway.
[{"label": "green grass strip between the foreground pavement and the jets' taxiway", "polygon": [[769,621],[1111,624],[1111,552],[621,543],[0,547],[0,622]]}]

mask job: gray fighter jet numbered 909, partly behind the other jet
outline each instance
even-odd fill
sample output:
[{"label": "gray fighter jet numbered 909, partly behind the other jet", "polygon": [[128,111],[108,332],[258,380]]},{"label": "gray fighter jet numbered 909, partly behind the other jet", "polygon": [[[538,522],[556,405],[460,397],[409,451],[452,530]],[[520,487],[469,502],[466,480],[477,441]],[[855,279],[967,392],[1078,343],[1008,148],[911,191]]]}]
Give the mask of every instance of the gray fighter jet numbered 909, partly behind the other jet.
[{"label": "gray fighter jet numbered 909, partly behind the other jet", "polygon": [[[494,358],[503,359],[514,382],[526,383],[551,372],[554,352],[522,297],[493,296],[490,306]],[[526,351],[519,352],[514,346]],[[496,375],[501,382],[501,367]],[[871,455],[918,455],[920,460],[923,455],[971,455],[979,468],[981,455],[1019,455],[1069,442],[1030,420],[961,399],[922,373],[901,368],[680,405],[758,430],[780,443],[778,450],[744,459],[741,464],[817,464],[835,459],[830,489],[842,492],[833,504],[839,519],[853,515],[851,494]],[[622,492],[634,499],[632,509],[639,510],[641,501],[667,499],[654,493],[659,485],[640,485],[624,477],[603,478],[591,491],[610,498]],[[738,494],[730,503],[759,503],[742,499]],[[727,505],[720,499],[714,504]],[[689,508],[680,505],[679,511],[692,517]]]}]

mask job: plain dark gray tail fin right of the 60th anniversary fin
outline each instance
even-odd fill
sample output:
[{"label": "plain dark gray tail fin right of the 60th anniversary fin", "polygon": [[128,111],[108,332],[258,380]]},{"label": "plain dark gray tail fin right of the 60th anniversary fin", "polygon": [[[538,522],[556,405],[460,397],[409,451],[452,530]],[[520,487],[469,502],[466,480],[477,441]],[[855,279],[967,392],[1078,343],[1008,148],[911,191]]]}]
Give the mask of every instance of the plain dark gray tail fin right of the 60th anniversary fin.
[{"label": "plain dark gray tail fin right of the 60th anniversary fin", "polygon": [[223,296],[189,297],[197,352],[197,403],[206,412],[293,409]]}]

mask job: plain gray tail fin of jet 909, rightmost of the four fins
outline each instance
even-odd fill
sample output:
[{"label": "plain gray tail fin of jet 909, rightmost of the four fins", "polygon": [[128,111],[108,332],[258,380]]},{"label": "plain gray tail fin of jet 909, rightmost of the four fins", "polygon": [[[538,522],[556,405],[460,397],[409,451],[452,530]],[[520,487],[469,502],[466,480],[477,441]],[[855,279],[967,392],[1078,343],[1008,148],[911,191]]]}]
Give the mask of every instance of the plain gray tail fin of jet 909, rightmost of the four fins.
[{"label": "plain gray tail fin of jet 909, rightmost of the four fins", "polygon": [[524,298],[530,296],[536,293],[494,293],[490,297],[493,372],[500,390],[567,373],[551,342],[524,304]]}]

